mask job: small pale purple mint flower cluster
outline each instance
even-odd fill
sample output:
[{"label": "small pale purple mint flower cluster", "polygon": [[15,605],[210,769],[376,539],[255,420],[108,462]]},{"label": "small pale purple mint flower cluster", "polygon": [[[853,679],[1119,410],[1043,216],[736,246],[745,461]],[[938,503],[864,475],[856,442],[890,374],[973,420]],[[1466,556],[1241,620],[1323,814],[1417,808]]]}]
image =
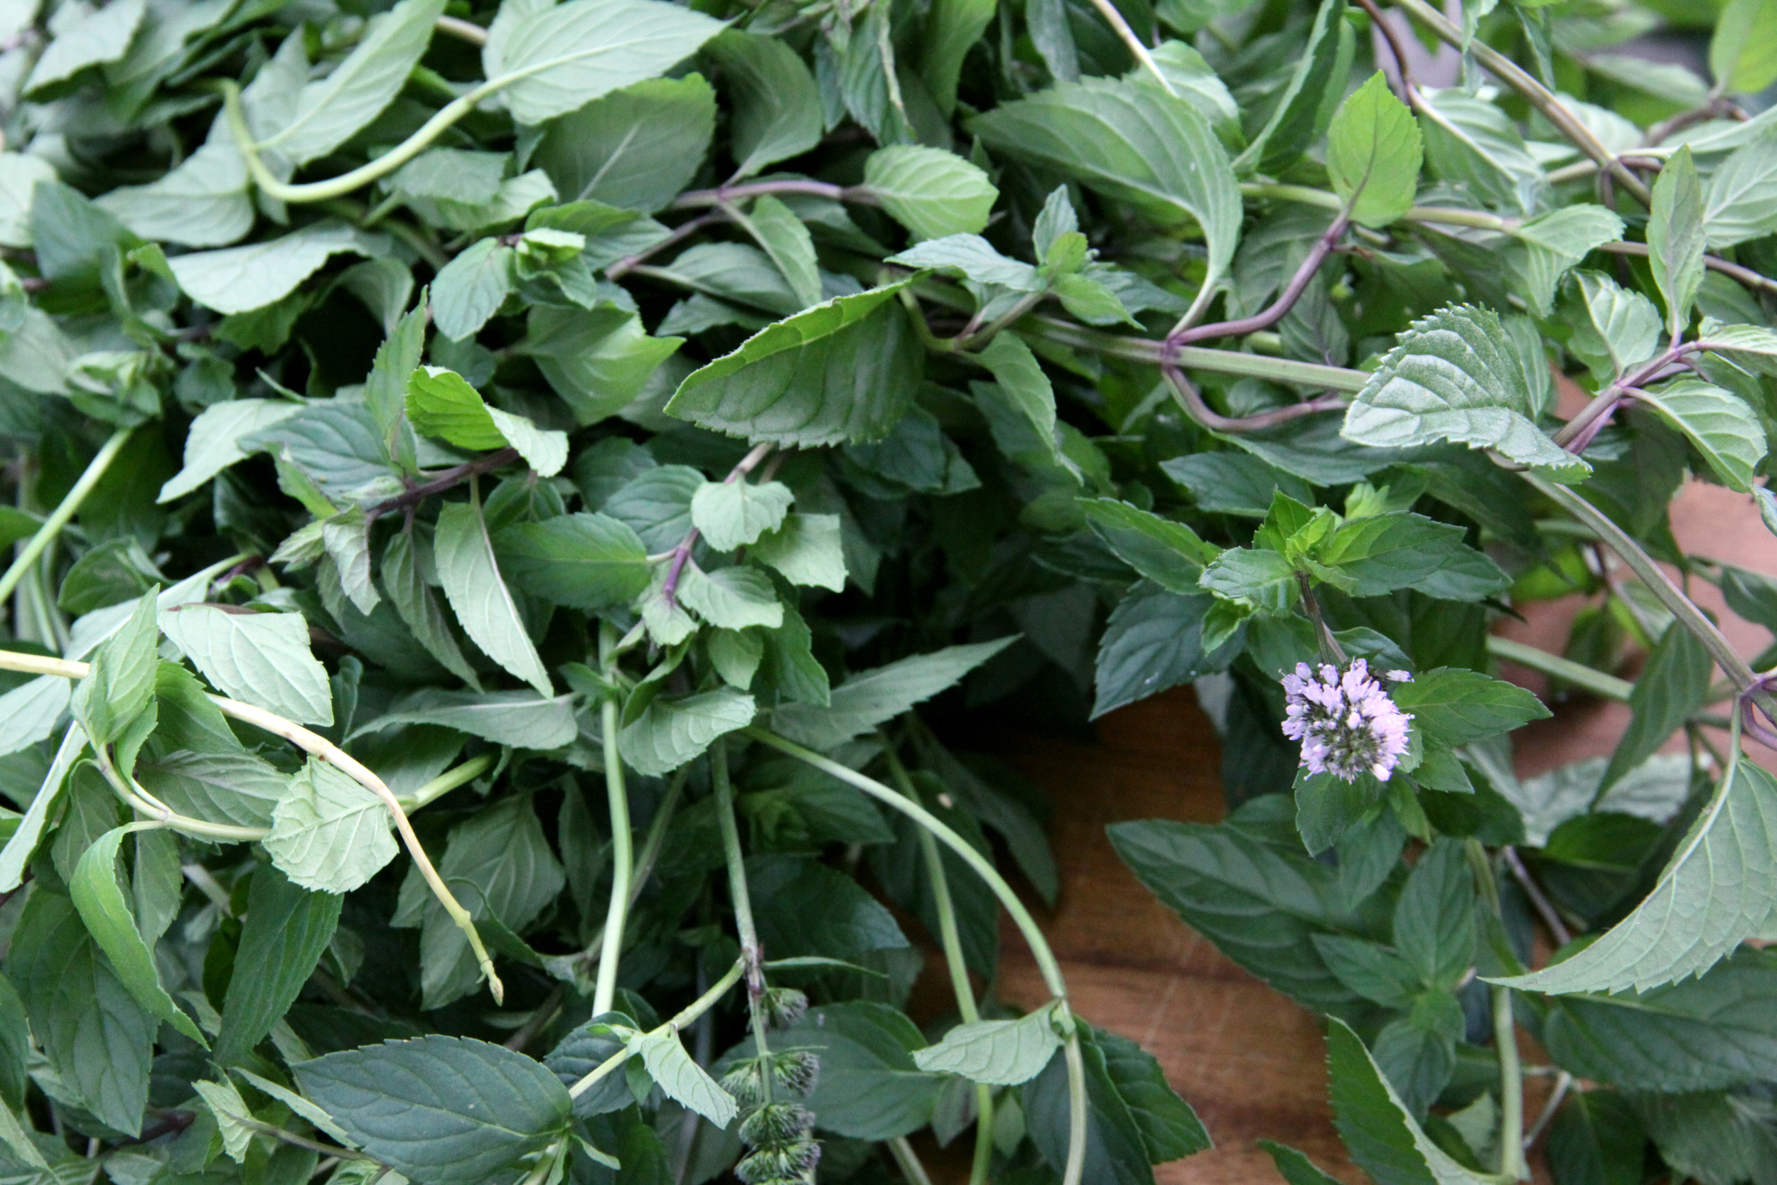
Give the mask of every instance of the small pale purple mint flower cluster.
[{"label": "small pale purple mint flower cluster", "polygon": [[[1388,672],[1384,679],[1402,682],[1407,672]],[[1294,675],[1283,677],[1287,693],[1283,736],[1303,743],[1308,773],[1331,773],[1354,782],[1359,773],[1374,773],[1388,782],[1400,755],[1407,752],[1411,714],[1395,707],[1370,675],[1370,664],[1354,659],[1342,675],[1324,663],[1319,673],[1297,663]]]}]

